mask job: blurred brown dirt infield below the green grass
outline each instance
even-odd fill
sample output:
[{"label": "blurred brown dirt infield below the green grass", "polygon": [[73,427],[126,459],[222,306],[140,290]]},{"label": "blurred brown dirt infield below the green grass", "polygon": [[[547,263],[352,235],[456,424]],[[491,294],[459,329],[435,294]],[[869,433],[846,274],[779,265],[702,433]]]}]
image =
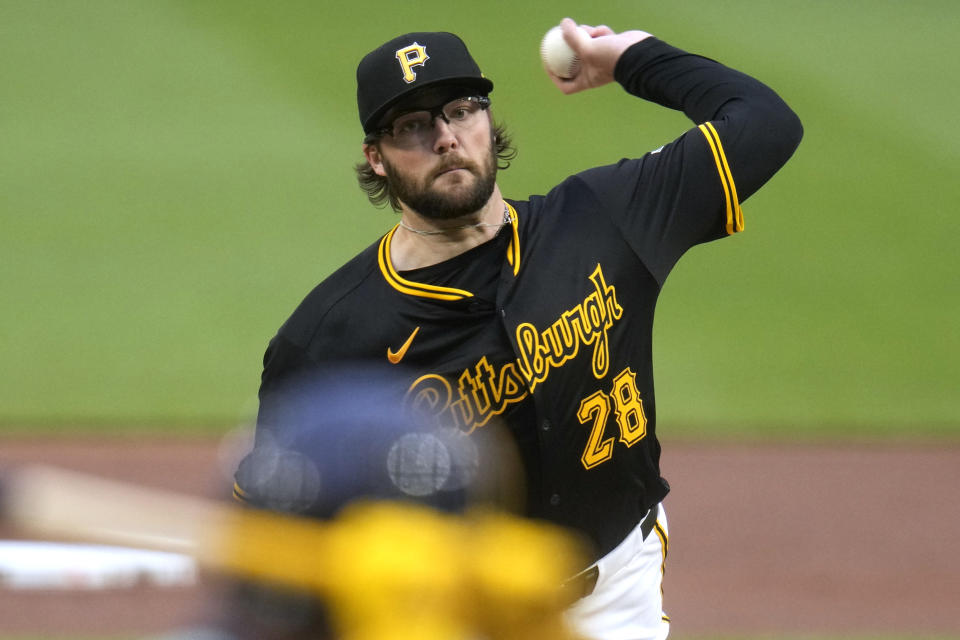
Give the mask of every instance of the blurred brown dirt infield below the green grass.
[{"label": "blurred brown dirt infield below the green grass", "polygon": [[[0,463],[208,496],[226,488],[219,457],[209,440],[0,440]],[[667,442],[663,469],[671,637],[960,636],[960,445]],[[199,615],[203,595],[0,589],[0,635],[155,633]]]}]

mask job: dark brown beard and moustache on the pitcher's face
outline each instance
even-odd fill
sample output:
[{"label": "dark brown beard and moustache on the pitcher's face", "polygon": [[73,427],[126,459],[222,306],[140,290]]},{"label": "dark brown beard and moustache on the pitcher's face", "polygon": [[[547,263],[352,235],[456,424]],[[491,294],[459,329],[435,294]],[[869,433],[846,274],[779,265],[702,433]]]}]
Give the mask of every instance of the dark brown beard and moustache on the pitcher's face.
[{"label": "dark brown beard and moustache on the pitcher's face", "polygon": [[[490,153],[480,165],[464,159],[444,160],[430,175],[417,179],[403,172],[383,158],[390,189],[408,207],[432,220],[451,220],[479,211],[493,194],[497,181],[497,159],[493,143]],[[471,176],[468,184],[437,187],[434,182],[438,173],[448,168],[466,169]]]}]

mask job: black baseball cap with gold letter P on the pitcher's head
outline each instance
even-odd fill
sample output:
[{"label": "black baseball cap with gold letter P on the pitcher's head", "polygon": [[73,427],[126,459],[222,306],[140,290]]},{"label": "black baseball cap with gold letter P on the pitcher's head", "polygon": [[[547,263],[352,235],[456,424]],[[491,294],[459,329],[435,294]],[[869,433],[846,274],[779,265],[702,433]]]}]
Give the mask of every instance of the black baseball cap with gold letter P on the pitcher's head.
[{"label": "black baseball cap with gold letter P on the pitcher's head", "polygon": [[407,33],[374,49],[357,66],[357,107],[364,133],[372,133],[390,107],[423,87],[457,84],[493,91],[493,83],[459,37],[447,32]]}]

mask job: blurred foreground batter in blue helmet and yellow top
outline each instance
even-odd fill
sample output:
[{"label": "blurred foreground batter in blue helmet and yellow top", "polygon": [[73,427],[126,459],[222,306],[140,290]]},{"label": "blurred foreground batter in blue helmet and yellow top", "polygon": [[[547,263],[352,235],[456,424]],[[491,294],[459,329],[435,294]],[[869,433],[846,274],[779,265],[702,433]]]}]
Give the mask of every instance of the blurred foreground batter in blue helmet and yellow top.
[{"label": "blurred foreground batter in blue helmet and yellow top", "polygon": [[[261,407],[215,565],[219,611],[169,640],[562,640],[579,541],[521,509],[509,438],[424,420],[397,380],[337,368]],[[362,402],[358,402],[358,398]]]}]

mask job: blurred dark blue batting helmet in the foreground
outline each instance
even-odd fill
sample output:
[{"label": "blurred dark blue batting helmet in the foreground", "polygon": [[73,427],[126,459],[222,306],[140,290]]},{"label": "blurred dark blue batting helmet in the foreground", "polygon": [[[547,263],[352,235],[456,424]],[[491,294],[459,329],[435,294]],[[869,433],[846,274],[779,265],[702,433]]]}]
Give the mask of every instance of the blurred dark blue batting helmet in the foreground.
[{"label": "blurred dark blue batting helmet in the foreground", "polygon": [[[463,511],[496,465],[474,438],[406,399],[409,380],[365,364],[318,365],[270,388],[234,495],[326,519],[360,499]],[[484,467],[480,466],[483,457]]]}]

